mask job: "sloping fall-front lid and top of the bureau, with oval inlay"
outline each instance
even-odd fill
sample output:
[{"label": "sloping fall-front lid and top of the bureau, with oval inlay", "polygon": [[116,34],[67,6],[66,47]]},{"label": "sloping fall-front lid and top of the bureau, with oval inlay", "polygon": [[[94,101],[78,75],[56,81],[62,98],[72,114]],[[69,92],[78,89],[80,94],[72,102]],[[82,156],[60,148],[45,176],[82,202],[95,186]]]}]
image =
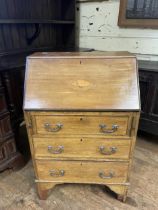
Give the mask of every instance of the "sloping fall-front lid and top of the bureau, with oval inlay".
[{"label": "sloping fall-front lid and top of the bureau, with oval inlay", "polygon": [[127,52],[35,53],[24,110],[139,110],[137,64]]}]

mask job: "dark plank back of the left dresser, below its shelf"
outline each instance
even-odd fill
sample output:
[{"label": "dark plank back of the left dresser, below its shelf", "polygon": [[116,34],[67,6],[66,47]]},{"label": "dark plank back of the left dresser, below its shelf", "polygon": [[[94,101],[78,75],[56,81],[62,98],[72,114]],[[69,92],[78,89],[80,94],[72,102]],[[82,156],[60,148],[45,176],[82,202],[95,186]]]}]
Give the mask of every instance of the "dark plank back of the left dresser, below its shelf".
[{"label": "dark plank back of the left dresser, below its shelf", "polygon": [[[36,27],[38,27],[39,30],[38,37],[31,41],[31,37],[35,34]],[[55,48],[56,43],[54,40],[58,39],[54,33],[55,30],[56,26],[52,26],[51,24],[38,26],[30,24],[26,24],[25,26],[23,24],[19,24],[18,26],[2,24],[0,25],[0,54],[3,55],[4,52],[7,51],[26,48],[30,50],[46,46]],[[49,36],[49,34],[53,36]]]}]

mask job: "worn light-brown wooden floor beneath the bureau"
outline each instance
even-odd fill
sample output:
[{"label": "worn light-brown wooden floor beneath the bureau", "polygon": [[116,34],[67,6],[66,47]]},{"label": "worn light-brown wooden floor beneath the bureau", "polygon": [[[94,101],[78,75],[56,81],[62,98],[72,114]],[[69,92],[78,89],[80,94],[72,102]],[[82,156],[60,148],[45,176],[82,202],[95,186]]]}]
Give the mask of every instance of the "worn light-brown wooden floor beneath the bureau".
[{"label": "worn light-brown wooden floor beneath the bureau", "polygon": [[18,172],[0,174],[0,210],[158,210],[158,139],[139,137],[134,153],[126,203],[104,186],[56,186],[46,201],[38,199],[30,161]]}]

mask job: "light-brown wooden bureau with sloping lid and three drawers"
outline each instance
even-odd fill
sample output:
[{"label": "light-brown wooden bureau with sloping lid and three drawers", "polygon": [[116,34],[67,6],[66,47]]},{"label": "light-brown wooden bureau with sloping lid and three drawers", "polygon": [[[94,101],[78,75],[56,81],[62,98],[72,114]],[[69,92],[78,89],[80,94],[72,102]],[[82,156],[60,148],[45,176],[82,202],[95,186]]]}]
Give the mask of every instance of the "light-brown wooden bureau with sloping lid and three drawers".
[{"label": "light-brown wooden bureau with sloping lid and three drawers", "polygon": [[135,56],[35,53],[24,95],[39,197],[56,184],[91,183],[125,201],[140,110]]}]

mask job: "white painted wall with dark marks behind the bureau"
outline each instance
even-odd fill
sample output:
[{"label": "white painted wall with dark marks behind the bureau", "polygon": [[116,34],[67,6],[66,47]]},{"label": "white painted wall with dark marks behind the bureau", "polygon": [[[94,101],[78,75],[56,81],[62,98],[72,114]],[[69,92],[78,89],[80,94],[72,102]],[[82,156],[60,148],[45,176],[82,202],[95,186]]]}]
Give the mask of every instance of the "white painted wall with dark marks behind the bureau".
[{"label": "white painted wall with dark marks behind the bureau", "polygon": [[138,59],[158,60],[158,30],[119,28],[119,2],[78,3],[79,46],[104,51],[130,51],[137,54]]}]

